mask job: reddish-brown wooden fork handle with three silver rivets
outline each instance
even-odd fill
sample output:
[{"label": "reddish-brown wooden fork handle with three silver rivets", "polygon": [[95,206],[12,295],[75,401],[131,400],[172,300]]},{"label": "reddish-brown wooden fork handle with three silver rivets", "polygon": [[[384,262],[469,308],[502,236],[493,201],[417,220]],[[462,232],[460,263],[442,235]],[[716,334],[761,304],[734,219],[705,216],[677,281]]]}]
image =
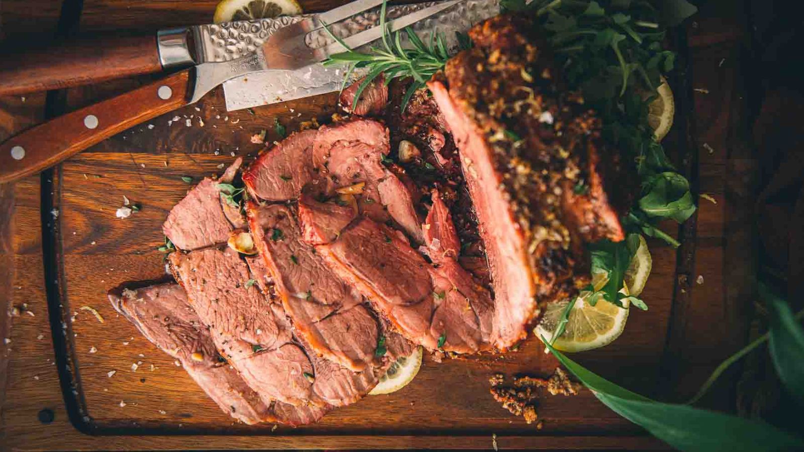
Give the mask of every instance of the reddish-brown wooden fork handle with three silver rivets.
[{"label": "reddish-brown wooden fork handle with three silver rivets", "polygon": [[0,184],[38,173],[143,121],[187,104],[190,69],[56,117],[0,145]]}]

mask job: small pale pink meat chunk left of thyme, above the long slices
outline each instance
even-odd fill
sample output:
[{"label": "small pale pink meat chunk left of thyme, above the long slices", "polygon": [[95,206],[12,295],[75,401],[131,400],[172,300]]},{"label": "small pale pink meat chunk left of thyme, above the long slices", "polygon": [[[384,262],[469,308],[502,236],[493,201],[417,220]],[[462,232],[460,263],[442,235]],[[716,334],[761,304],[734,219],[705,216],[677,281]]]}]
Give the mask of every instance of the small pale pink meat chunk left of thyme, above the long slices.
[{"label": "small pale pink meat chunk left of thyme, above the long slices", "polygon": [[167,215],[162,232],[178,249],[199,249],[223,243],[232,231],[221,205],[217,182],[203,179]]}]

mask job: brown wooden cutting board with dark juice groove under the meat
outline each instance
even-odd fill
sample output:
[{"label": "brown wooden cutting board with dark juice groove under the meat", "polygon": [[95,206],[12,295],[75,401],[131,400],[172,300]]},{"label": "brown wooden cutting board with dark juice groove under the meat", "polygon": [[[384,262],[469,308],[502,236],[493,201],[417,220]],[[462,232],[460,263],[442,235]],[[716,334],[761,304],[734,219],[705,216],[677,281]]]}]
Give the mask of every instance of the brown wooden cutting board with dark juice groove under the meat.
[{"label": "brown wooden cutting board with dark juice groove under the meat", "polygon": [[[85,2],[84,8],[96,6]],[[723,187],[709,187],[703,179],[699,184],[699,173],[708,171],[722,182],[728,169],[706,166],[711,154],[698,154],[689,127],[688,76],[679,72],[672,80],[679,113],[667,149],[696,186],[722,203]],[[141,81],[71,90],[68,108]],[[48,450],[490,448],[496,435],[500,447],[661,447],[588,391],[541,397],[542,429],[502,409],[488,392],[492,373],[548,376],[556,368],[535,339],[504,355],[441,364],[425,358],[419,376],[400,392],[336,409],[316,425],[239,425],[113,310],[105,297],[109,288],[164,277],[157,251],[161,224],[191,187],[183,177],[197,181],[219,173],[232,154],[260,150],[250,140],[253,134],[265,129],[269,141],[279,139],[275,121],[297,129],[301,121],[333,113],[334,102],[334,95],[326,95],[227,113],[216,90],[198,105],[118,134],[42,178],[0,187],[0,267],[11,269],[0,274],[6,277],[0,294],[10,306],[27,303],[33,314],[23,310],[2,324],[10,342],[0,345],[6,347],[0,360],[6,369],[0,444]],[[119,219],[115,211],[124,196],[141,209]],[[740,250],[724,243],[722,212],[704,202],[697,223],[694,218],[683,229],[679,251],[649,240],[654,267],[643,298],[650,310],[631,312],[626,331],[611,346],[573,358],[637,392],[672,401],[687,397],[712,363],[728,355],[735,343],[728,327],[745,323],[740,312],[723,314],[740,290],[739,284],[726,284],[739,265],[724,265],[724,259]],[[674,235],[678,229],[664,226]],[[718,316],[724,322],[712,331],[696,332]],[[695,355],[688,352],[690,339],[701,341]],[[724,399],[716,394],[711,403]]]}]

